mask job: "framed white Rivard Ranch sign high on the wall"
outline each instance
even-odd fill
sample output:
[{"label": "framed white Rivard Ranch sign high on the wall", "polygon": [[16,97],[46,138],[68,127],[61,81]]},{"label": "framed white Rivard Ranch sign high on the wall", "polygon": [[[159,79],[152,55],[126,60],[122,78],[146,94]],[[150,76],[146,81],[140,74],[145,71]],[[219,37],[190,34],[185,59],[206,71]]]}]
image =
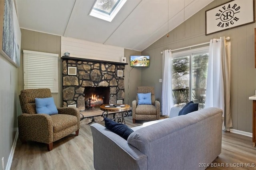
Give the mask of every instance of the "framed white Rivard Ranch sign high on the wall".
[{"label": "framed white Rivard Ranch sign high on the wall", "polygon": [[254,23],[254,0],[232,0],[205,12],[205,35]]}]

